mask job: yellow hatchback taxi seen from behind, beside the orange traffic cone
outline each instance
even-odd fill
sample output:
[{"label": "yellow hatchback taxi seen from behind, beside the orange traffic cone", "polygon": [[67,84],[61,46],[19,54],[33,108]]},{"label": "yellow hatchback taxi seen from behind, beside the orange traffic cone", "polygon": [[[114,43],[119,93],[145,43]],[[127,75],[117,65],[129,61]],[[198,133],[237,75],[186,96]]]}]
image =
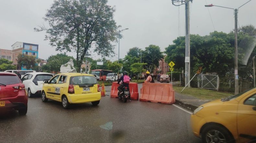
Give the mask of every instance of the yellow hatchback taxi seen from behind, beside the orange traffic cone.
[{"label": "yellow hatchback taxi seen from behind, beside the orange traffic cone", "polygon": [[43,102],[48,99],[62,102],[67,109],[70,104],[91,102],[99,104],[99,84],[93,75],[84,73],[59,73],[45,81],[41,92]]}]

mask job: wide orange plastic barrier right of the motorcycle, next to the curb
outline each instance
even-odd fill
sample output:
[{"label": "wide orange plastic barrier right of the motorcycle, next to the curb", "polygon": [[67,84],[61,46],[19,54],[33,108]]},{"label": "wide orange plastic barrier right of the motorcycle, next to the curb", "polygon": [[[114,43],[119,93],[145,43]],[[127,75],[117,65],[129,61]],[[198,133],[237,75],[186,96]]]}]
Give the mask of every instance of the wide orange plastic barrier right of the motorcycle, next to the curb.
[{"label": "wide orange plastic barrier right of the motorcycle, next to the curb", "polygon": [[140,89],[140,101],[174,104],[174,90],[169,83],[143,83]]}]

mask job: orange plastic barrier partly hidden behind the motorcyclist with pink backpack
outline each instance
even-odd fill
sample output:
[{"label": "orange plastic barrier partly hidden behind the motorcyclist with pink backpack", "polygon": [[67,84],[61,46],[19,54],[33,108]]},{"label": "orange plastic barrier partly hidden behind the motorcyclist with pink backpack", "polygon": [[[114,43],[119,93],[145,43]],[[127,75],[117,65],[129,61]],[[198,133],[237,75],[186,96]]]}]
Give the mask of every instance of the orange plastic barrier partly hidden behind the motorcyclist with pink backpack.
[{"label": "orange plastic barrier partly hidden behind the motorcyclist with pink backpack", "polygon": [[[111,91],[110,91],[110,97],[112,98],[118,98],[118,88],[119,84],[117,82],[112,83]],[[131,94],[131,100],[138,100],[139,99],[139,92],[138,92],[138,83],[130,82],[129,83],[129,89]]]}]

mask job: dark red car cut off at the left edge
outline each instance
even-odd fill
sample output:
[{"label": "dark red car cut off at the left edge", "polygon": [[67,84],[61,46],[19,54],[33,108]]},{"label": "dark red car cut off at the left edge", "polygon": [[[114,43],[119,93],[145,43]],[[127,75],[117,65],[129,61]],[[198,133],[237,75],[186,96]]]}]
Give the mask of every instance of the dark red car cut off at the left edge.
[{"label": "dark red car cut off at the left edge", "polygon": [[6,110],[18,110],[19,115],[26,115],[28,96],[15,73],[0,72],[0,111]]}]

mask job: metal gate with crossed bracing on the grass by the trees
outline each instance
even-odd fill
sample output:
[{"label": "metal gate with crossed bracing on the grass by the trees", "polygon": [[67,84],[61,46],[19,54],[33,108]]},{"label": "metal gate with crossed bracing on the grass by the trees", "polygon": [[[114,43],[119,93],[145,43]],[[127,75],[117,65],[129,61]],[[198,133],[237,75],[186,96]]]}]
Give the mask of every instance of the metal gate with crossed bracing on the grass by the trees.
[{"label": "metal gate with crossed bracing on the grass by the trees", "polygon": [[219,77],[218,75],[199,74],[197,80],[197,87],[204,89],[219,90]]}]

